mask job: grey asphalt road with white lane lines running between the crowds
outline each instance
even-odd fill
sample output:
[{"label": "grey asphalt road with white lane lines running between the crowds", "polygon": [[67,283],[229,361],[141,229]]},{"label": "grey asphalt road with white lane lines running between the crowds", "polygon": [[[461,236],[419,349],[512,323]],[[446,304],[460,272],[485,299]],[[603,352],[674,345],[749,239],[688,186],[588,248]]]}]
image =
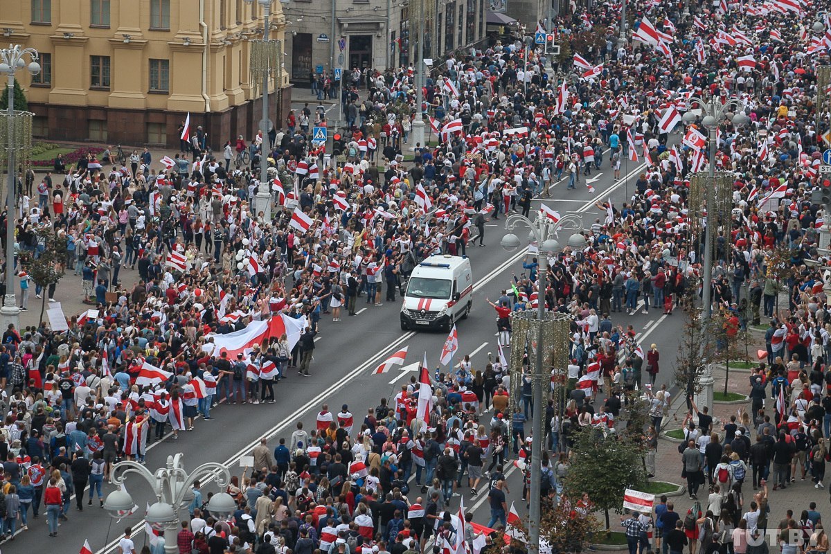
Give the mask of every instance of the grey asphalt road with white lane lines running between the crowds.
[{"label": "grey asphalt road with white lane lines running between the crowds", "polygon": [[[602,219],[604,216],[594,206],[597,200],[611,198],[616,205],[620,205],[624,199],[630,198],[642,164],[630,163],[625,169],[628,174],[622,172],[622,175],[628,178],[615,183],[606,154],[602,168],[590,178],[595,179],[594,194],[589,193],[582,180],[576,190],[566,190],[566,183],[562,182],[553,187],[552,199],[545,199],[545,202],[560,213],[580,213],[588,228],[595,218]],[[535,207],[538,203],[539,200],[535,200]],[[504,233],[504,218],[488,222],[484,238],[486,247],[468,248],[475,278],[474,309],[466,321],[460,321],[458,331],[460,354],[472,353],[475,367],[484,366],[487,354],[496,352],[495,314],[484,299],[495,298],[501,289],[509,287],[511,272],[521,272],[521,262],[525,257],[524,251],[509,253],[499,248],[499,239]],[[525,236],[524,232],[518,234]],[[561,240],[565,239],[567,237],[561,237]],[[398,321],[400,300],[385,302],[379,307],[364,304],[365,298],[360,298],[359,302],[361,312],[358,316],[344,316],[341,323],[332,323],[331,320],[321,322],[321,339],[317,342],[312,376],[303,378],[296,373],[288,373],[288,379],[275,387],[277,404],[221,404],[212,410],[213,421],[198,419],[194,431],[179,434],[178,440],[169,438],[152,444],[147,452],[147,467],[159,468],[168,456],[182,452],[188,469],[195,468],[199,463],[214,461],[225,463],[232,474],[239,475],[242,473],[239,458],[249,455],[260,437],[266,436],[270,439],[269,444],[276,445],[277,438],[288,439],[297,421],[302,421],[307,429],[313,427],[321,404],[329,404],[332,413],[339,411],[342,404],[348,404],[352,414],[360,420],[366,409],[378,404],[382,396],[389,398],[397,385],[412,375],[397,368],[386,375],[371,375],[372,370],[392,351],[409,346],[404,367],[421,360],[425,352],[431,367],[438,364],[438,354],[445,341],[444,333],[401,331]],[[667,318],[661,316],[659,311],[652,311],[648,316],[640,312],[634,316],[614,316],[617,316],[612,318],[614,324],[631,323],[635,327],[645,349],[651,342],[658,344],[663,354],[658,384],[669,383],[682,316]],[[509,476],[509,485],[509,501],[517,501],[518,509],[522,510],[524,503],[519,500],[522,486],[517,474]],[[151,498],[146,483],[135,475],[128,478],[126,487],[140,509],[133,516],[116,522],[98,507],[86,507],[85,502],[85,510],[71,510],[69,522],[64,522],[59,530],[61,542],[57,544],[66,544],[66,547],[61,547],[61,552],[75,552],[73,549],[80,549],[86,539],[96,554],[109,554],[116,550],[121,533],[128,526],[136,531],[134,540],[137,546],[142,545],[145,542],[142,514],[146,503],[155,502],[155,498]],[[105,494],[113,489],[112,485],[106,484]],[[216,490],[216,487],[208,483],[203,493],[211,490]],[[475,521],[487,523],[486,494],[479,493],[478,498],[471,499],[468,493],[470,491],[465,490],[465,506],[474,508]],[[187,517],[184,511],[179,515]],[[6,542],[3,547],[7,552],[33,552],[32,549],[41,547],[46,539],[46,517],[42,516],[37,522],[32,522],[30,518],[29,531],[18,533],[15,542]]]}]

